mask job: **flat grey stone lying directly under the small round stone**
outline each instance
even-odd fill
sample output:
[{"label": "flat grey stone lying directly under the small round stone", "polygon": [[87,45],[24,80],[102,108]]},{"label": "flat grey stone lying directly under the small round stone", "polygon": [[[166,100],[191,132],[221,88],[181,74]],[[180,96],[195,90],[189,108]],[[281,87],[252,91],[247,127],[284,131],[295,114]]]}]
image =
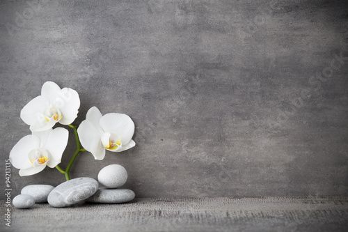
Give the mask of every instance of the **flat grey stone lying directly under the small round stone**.
[{"label": "flat grey stone lying directly under the small round stone", "polygon": [[132,190],[100,188],[86,201],[93,203],[125,203],[132,201],[134,197],[135,194]]}]

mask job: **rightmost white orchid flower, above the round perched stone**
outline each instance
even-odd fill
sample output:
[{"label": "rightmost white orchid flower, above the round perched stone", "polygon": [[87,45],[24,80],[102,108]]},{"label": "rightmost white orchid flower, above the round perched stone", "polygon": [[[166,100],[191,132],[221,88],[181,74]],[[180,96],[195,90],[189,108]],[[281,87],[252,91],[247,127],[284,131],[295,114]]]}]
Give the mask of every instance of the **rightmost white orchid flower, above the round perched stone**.
[{"label": "rightmost white orchid flower, above the round perched stone", "polygon": [[110,113],[102,116],[92,107],[77,129],[82,146],[95,157],[103,160],[105,150],[120,152],[135,146],[132,140],[134,123],[126,114]]}]

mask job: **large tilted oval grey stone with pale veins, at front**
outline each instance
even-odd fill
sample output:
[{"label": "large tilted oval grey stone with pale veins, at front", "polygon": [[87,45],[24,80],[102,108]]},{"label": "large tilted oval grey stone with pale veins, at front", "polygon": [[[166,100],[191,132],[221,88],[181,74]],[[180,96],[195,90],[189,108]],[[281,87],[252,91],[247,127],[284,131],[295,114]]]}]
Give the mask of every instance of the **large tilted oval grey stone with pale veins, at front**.
[{"label": "large tilted oval grey stone with pale veins, at front", "polygon": [[68,180],[52,190],[48,195],[49,205],[61,208],[81,203],[98,190],[97,180],[89,177]]}]

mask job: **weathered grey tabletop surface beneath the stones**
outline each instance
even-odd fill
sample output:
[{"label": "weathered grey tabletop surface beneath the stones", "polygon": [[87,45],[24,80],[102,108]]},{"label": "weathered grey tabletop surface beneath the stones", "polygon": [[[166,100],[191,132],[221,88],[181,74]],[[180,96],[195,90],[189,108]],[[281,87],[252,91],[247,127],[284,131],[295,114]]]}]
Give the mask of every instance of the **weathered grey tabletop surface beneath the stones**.
[{"label": "weathered grey tabletop surface beneath the stones", "polygon": [[[4,212],[5,203],[1,203]],[[345,231],[348,197],[166,198],[11,208],[1,231]]]}]

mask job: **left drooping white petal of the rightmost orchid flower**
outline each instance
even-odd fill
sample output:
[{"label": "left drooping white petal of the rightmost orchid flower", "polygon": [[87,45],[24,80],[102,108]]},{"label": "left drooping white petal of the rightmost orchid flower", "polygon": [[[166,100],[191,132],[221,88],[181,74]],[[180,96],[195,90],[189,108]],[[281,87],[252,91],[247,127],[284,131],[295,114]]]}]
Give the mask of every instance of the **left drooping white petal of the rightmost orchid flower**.
[{"label": "left drooping white petal of the rightmost orchid flower", "polygon": [[97,130],[90,121],[83,121],[77,128],[81,145],[95,157],[95,160],[103,160],[105,148],[102,146],[100,138],[102,133]]}]

